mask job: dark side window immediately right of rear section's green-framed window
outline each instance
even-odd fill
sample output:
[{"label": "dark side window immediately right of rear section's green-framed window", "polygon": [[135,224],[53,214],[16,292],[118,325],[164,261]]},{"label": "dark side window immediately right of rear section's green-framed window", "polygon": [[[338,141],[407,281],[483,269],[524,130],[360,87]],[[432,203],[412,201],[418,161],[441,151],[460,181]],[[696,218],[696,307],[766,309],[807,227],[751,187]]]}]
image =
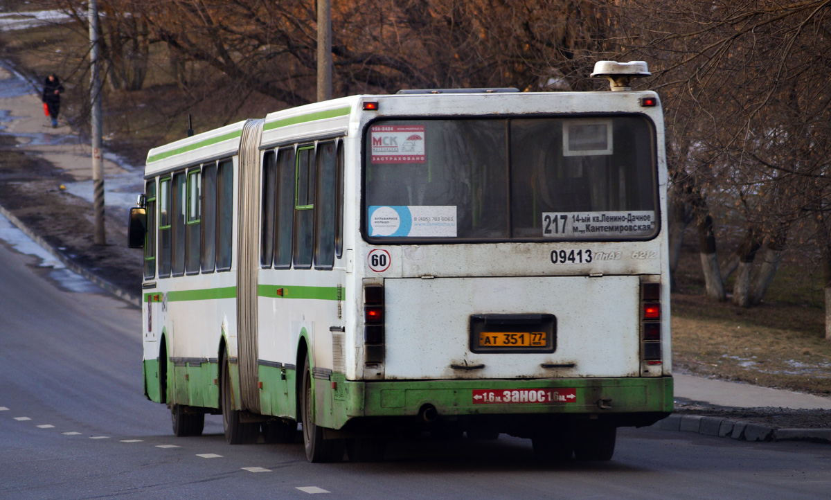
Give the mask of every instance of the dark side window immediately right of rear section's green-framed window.
[{"label": "dark side window immediately right of rear section's green-framed window", "polygon": [[335,143],[317,144],[317,209],[315,210],[315,269],[332,269],[335,263],[335,208],[337,202],[337,150]]}]

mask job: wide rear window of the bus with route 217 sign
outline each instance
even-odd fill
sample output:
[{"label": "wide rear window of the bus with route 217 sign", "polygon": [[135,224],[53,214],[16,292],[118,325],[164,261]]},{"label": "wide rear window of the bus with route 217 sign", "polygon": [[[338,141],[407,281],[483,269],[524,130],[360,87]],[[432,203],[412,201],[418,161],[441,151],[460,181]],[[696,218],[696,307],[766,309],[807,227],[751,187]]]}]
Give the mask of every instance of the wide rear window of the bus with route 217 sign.
[{"label": "wide rear window of the bus with route 217 sign", "polygon": [[369,241],[657,233],[655,133],[638,116],[383,120],[364,154]]}]

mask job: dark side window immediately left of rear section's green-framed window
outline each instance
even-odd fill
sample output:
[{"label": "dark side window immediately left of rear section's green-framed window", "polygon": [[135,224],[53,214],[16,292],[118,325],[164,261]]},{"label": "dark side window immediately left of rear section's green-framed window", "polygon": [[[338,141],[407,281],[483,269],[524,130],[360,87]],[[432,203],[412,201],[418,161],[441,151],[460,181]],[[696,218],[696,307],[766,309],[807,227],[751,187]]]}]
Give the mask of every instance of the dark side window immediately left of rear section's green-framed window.
[{"label": "dark side window immediately left of rear section's green-framed window", "polygon": [[277,154],[277,230],[274,232],[274,268],[292,267],[294,234],[294,147],[281,148]]}]

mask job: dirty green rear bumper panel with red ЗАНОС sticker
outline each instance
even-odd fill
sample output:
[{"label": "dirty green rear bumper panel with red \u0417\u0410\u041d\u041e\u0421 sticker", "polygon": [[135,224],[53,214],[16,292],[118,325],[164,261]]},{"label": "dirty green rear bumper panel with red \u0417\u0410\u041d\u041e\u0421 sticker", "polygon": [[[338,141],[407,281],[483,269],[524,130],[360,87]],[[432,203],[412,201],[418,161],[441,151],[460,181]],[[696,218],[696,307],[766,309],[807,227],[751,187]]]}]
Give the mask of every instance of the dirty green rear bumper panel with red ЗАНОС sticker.
[{"label": "dirty green rear bumper panel with red \u0417\u0410\u041d\u041e\u0421 sticker", "polygon": [[[329,393],[317,395],[318,409],[324,410],[317,415],[317,424],[332,429],[356,417],[417,415],[425,404],[432,404],[440,415],[636,414],[673,409],[671,377],[347,381],[338,384],[346,386],[343,400],[335,400],[330,385],[316,382],[316,392]],[[332,406],[326,408],[326,403]]]}]

